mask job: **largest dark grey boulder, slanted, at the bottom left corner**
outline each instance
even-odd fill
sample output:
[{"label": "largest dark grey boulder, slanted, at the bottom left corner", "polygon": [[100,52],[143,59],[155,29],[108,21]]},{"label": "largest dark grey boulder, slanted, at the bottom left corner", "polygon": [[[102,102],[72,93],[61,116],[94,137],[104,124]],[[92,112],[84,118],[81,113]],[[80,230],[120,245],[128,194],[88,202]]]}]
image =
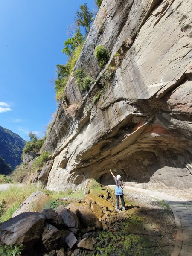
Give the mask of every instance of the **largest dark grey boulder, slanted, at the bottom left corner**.
[{"label": "largest dark grey boulder, slanted, at the bottom left corner", "polygon": [[45,216],[39,212],[25,212],[0,225],[0,240],[7,245],[27,244],[27,248],[40,239]]}]

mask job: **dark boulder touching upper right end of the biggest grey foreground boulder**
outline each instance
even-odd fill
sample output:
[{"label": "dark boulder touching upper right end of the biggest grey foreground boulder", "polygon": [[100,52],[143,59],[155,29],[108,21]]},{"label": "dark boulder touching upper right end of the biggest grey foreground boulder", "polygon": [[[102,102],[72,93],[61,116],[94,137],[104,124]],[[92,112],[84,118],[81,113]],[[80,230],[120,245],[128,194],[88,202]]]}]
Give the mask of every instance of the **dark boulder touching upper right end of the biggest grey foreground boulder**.
[{"label": "dark boulder touching upper right end of the biggest grey foreground boulder", "polygon": [[58,215],[57,212],[55,212],[53,209],[44,209],[42,213],[45,215],[47,223],[55,226],[59,230],[62,230],[64,223],[61,216]]}]

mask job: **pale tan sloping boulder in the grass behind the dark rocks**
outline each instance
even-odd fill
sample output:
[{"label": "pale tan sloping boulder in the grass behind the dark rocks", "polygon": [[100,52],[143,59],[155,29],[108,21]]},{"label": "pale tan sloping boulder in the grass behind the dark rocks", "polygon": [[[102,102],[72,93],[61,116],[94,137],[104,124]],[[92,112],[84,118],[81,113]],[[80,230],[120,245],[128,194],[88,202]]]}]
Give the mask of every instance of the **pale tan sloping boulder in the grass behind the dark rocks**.
[{"label": "pale tan sloping boulder in the grass behind the dark rocks", "polygon": [[44,204],[49,201],[51,197],[42,191],[32,193],[20,207],[13,213],[12,217],[19,215],[22,212],[41,212]]}]

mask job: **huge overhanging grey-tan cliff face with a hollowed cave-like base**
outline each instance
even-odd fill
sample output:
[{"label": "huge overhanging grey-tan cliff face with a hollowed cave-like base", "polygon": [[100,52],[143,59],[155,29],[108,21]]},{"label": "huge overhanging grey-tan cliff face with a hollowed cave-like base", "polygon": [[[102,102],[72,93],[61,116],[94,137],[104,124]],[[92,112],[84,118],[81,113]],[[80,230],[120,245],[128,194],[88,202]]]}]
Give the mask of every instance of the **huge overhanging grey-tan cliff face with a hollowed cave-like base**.
[{"label": "huge overhanging grey-tan cliff face with a hollowed cave-like base", "polygon": [[[72,73],[44,144],[53,154],[48,189],[87,178],[110,184],[109,169],[125,181],[192,186],[190,9],[191,0],[103,0],[75,67],[95,83],[80,92]],[[99,44],[111,53],[104,70],[94,57]],[[119,64],[93,103],[116,52]],[[66,102],[81,103],[74,117]]]}]

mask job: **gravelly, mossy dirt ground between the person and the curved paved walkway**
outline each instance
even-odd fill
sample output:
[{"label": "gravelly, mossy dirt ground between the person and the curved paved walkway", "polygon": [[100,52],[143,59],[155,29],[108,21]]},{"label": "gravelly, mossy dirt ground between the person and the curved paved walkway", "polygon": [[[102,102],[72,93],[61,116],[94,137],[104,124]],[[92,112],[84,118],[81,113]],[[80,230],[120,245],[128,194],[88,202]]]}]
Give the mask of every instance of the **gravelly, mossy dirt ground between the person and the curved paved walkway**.
[{"label": "gravelly, mossy dirt ground between the person and the curved paved walkway", "polygon": [[[114,187],[110,186],[112,190]],[[116,212],[106,219],[108,230],[98,235],[99,246],[103,249],[100,254],[170,256],[174,250],[176,226],[169,206],[155,197],[127,188],[124,195],[126,211]]]}]

